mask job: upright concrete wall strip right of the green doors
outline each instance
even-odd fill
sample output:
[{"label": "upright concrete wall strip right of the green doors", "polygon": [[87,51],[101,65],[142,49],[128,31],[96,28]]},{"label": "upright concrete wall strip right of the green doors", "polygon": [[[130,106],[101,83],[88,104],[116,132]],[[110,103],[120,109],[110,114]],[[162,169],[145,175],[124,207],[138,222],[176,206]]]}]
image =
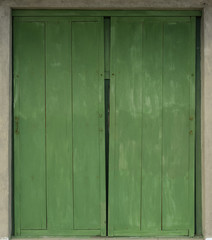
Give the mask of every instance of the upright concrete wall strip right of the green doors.
[{"label": "upright concrete wall strip right of the green doors", "polygon": [[202,56],[202,190],[203,190],[203,233],[212,237],[212,7],[204,9],[204,35]]}]

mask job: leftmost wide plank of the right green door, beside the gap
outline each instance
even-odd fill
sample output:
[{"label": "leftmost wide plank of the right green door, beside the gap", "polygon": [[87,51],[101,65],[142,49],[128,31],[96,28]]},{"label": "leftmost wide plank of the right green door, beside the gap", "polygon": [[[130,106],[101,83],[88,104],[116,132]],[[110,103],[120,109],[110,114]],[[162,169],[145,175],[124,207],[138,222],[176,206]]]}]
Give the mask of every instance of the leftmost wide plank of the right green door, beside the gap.
[{"label": "leftmost wide plank of the right green door, beside the gap", "polygon": [[[123,41],[124,40],[124,41]],[[140,229],[142,21],[111,20],[109,235]]]}]

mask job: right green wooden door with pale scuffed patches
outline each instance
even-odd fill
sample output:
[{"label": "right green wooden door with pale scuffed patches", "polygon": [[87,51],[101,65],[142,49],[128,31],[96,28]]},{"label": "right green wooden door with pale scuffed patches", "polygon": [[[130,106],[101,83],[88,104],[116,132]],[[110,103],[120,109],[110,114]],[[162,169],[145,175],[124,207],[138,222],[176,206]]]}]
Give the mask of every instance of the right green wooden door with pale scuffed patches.
[{"label": "right green wooden door with pale scuffed patches", "polygon": [[195,18],[112,17],[109,235],[194,235]]}]

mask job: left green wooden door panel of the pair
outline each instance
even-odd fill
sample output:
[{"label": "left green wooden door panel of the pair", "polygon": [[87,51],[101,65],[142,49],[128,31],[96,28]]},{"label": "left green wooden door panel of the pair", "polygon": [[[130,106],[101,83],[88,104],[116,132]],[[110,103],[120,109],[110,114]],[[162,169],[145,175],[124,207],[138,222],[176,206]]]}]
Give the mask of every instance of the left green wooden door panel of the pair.
[{"label": "left green wooden door panel of the pair", "polygon": [[105,235],[103,18],[14,20],[15,235]]}]

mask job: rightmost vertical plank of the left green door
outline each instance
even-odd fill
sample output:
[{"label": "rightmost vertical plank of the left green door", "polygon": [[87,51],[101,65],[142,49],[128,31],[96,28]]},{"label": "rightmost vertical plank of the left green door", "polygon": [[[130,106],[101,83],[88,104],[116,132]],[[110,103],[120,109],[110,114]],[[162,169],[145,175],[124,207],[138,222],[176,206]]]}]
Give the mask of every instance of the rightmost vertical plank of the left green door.
[{"label": "rightmost vertical plank of the left green door", "polygon": [[99,119],[104,115],[99,84],[102,92],[104,65],[99,61],[103,51],[99,24],[72,22],[74,229],[101,227],[100,140],[103,143],[104,124]]}]

